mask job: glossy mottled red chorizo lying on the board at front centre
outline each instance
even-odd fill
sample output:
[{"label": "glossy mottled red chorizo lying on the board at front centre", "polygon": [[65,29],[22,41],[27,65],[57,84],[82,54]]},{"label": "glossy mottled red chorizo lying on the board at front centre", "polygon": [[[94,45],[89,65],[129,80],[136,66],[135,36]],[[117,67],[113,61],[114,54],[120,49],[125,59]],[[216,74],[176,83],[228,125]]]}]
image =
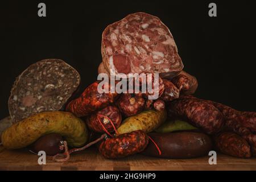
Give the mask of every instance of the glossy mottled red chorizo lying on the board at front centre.
[{"label": "glossy mottled red chorizo lying on the board at front centre", "polygon": [[105,158],[118,159],[143,151],[147,144],[147,135],[137,130],[106,139],[100,144],[99,151]]}]

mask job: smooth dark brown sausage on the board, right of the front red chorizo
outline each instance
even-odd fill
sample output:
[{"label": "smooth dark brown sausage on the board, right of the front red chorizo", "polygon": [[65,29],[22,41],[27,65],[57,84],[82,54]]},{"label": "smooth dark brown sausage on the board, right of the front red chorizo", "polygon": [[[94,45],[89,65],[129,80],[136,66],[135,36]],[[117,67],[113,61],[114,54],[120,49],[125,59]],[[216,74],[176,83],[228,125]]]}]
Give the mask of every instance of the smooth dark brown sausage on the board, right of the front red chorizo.
[{"label": "smooth dark brown sausage on the board, right of the front red chorizo", "polygon": [[[151,140],[143,155],[158,158],[186,159],[207,155],[212,148],[212,141],[203,133],[178,132],[178,133],[149,133]],[[159,150],[158,150],[158,148]]]}]

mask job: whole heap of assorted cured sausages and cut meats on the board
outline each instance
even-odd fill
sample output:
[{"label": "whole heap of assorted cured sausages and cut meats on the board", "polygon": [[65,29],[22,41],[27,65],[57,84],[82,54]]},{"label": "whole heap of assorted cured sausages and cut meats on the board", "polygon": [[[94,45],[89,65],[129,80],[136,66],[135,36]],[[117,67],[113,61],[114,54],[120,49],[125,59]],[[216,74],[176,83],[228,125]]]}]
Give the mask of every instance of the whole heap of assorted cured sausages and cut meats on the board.
[{"label": "whole heap of assorted cured sausages and cut meats on the board", "polygon": [[[84,85],[75,68],[59,59],[38,61],[11,89],[10,117],[0,130],[3,147],[45,151],[56,162],[92,146],[107,159],[186,159],[211,150],[256,155],[256,112],[194,97],[197,79],[183,71],[174,38],[158,17],[134,13],[110,24],[101,53],[99,74],[158,73],[158,98],[151,100],[148,92],[101,93],[99,80],[78,96]],[[110,81],[104,86],[111,89]]]}]

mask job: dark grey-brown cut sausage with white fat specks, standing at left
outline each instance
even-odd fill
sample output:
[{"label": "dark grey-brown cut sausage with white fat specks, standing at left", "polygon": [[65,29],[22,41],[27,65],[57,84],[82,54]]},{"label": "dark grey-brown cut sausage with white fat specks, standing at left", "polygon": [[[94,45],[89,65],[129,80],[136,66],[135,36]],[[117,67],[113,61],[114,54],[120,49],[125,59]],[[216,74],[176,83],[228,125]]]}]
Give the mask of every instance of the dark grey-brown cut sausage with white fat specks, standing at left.
[{"label": "dark grey-brown cut sausage with white fat specks, standing at left", "polygon": [[14,122],[64,108],[80,85],[80,75],[60,59],[45,59],[23,71],[11,89],[8,106]]}]

